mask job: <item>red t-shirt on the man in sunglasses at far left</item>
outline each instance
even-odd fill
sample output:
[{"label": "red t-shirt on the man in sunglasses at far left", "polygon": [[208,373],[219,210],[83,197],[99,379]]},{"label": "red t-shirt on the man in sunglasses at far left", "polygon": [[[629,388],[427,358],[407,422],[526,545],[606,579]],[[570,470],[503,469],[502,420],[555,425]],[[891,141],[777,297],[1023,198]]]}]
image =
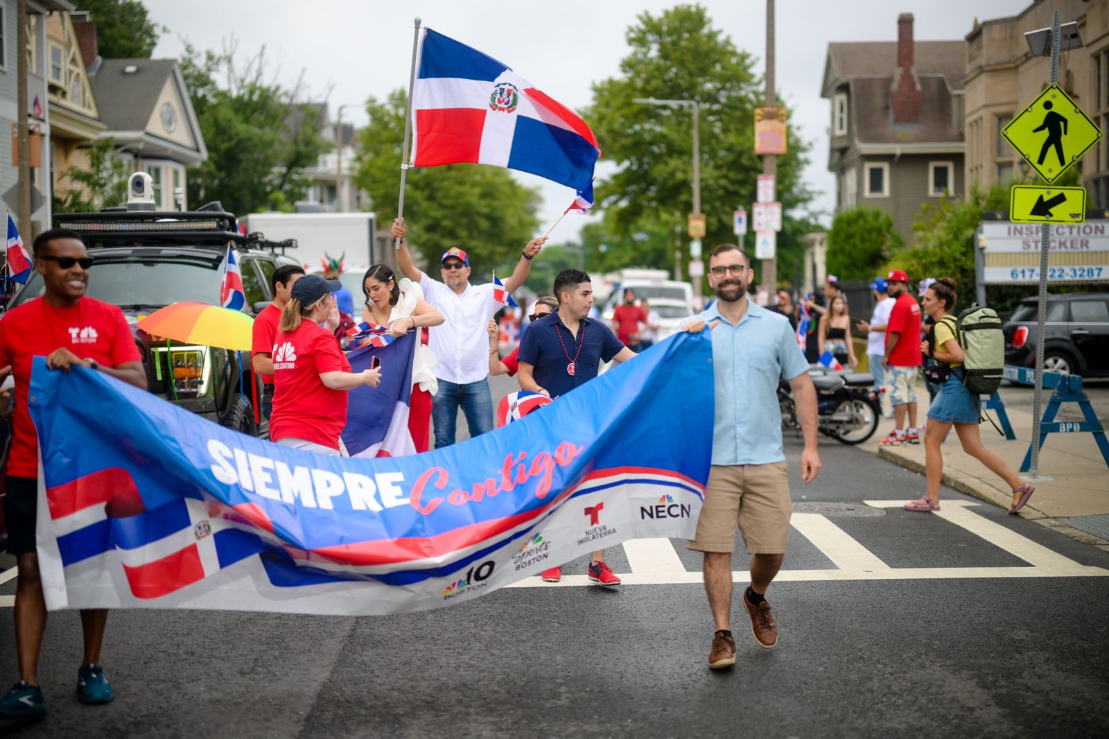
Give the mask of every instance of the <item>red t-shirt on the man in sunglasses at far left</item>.
[{"label": "red t-shirt on the man in sunglasses at far left", "polygon": [[105,367],[142,361],[123,312],[109,303],[82,297],[70,307],[55,307],[35,297],[8,311],[0,320],[0,367],[10,364],[16,377],[9,475],[39,476],[39,436],[27,408],[31,363],[57,348]]}]

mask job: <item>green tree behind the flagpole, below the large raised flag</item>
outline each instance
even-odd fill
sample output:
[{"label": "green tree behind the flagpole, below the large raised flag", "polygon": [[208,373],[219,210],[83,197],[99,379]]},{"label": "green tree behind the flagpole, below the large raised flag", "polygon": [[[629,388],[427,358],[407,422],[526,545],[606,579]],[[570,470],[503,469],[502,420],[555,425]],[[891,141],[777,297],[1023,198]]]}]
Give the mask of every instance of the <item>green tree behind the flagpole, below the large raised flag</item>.
[{"label": "green tree behind the flagpole, below the large raised flag", "polygon": [[[358,132],[354,180],[369,193],[380,223],[396,215],[407,98],[403,90],[385,101],[370,98],[370,124]],[[523,245],[539,235],[539,193],[519,184],[508,170],[448,164],[408,170],[407,180],[405,222],[428,264],[458,246],[470,252],[475,281],[485,282],[478,275],[515,264]]]}]

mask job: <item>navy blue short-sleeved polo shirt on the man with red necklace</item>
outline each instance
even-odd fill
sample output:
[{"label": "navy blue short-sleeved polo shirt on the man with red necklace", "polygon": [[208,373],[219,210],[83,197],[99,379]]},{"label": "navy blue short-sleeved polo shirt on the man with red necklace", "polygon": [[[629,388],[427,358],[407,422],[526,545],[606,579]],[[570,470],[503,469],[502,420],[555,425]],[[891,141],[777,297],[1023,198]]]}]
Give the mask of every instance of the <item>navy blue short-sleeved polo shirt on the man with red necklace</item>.
[{"label": "navy blue short-sleeved polo shirt on the man with red necklace", "polygon": [[[596,377],[601,362],[610,361],[623,347],[611,328],[593,318],[582,320],[576,337],[556,311],[530,324],[520,340],[519,361],[535,367],[532,376],[536,383],[550,393],[551,397],[558,397]],[[578,360],[571,375],[567,372],[567,366],[574,356]]]}]

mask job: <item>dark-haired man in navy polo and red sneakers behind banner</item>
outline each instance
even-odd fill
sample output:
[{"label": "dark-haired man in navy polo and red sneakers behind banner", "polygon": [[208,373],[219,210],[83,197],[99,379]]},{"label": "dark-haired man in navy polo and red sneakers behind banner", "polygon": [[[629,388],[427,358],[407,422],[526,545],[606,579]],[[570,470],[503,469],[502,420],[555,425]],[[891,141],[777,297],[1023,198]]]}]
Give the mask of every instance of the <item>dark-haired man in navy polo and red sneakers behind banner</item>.
[{"label": "dark-haired man in navy polo and red sneakers behind banner", "polygon": [[[589,317],[593,285],[581,270],[562,270],[554,277],[558,310],[531,324],[520,341],[518,379],[520,389],[549,397],[566,395],[597,376],[601,362],[624,362],[635,353],[617,338],[603,321]],[[562,569],[551,567],[541,577],[562,579]],[[620,585],[604,564],[604,549],[593,553],[589,579],[600,585]]]}]

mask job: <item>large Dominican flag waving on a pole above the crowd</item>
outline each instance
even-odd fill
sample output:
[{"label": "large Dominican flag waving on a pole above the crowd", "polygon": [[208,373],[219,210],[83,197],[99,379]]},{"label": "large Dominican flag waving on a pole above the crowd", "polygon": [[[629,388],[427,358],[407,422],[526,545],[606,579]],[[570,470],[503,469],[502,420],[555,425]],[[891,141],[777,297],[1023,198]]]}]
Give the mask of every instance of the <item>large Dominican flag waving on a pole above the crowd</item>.
[{"label": "large Dominican flag waving on a pole above the crowd", "polygon": [[413,164],[470,162],[531,172],[578,191],[597,136],[577,113],[508,65],[425,28],[413,90]]}]

